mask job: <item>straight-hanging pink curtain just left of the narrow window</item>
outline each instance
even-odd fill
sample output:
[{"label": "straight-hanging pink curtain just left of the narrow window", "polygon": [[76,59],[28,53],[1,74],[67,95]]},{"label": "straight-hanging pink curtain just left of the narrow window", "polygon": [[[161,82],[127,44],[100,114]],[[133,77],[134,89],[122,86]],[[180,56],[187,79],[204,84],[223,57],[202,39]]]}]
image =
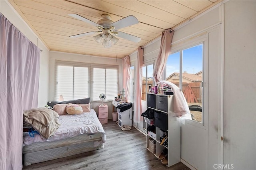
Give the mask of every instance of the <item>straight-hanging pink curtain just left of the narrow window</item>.
[{"label": "straight-hanging pink curtain just left of the narrow window", "polygon": [[143,66],[143,48],[138,47],[136,63],[136,81],[134,85],[134,122],[142,121],[141,115],[141,94],[142,94],[142,66]]}]

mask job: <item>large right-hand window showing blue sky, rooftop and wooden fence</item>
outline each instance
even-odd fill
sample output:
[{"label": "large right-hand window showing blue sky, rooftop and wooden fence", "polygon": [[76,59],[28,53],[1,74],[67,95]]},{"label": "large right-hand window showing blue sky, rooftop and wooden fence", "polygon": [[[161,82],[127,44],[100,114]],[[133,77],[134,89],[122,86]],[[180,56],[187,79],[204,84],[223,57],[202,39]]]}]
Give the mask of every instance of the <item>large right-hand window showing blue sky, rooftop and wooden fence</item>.
[{"label": "large right-hand window showing blue sky, rooftop and wooden fence", "polygon": [[[192,119],[200,123],[203,122],[203,49],[203,43],[180,49],[170,54],[166,62],[166,81],[180,87],[190,106]],[[202,111],[198,111],[198,107]]]}]

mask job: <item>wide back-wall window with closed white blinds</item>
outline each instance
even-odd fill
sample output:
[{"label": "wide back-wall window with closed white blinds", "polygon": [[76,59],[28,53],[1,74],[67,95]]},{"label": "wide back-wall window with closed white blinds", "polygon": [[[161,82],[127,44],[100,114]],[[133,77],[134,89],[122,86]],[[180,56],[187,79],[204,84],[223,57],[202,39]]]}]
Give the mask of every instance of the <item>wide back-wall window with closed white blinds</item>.
[{"label": "wide back-wall window with closed white blinds", "polygon": [[118,65],[99,65],[56,61],[55,100],[64,101],[91,97],[98,101],[104,93],[109,100],[118,93]]}]

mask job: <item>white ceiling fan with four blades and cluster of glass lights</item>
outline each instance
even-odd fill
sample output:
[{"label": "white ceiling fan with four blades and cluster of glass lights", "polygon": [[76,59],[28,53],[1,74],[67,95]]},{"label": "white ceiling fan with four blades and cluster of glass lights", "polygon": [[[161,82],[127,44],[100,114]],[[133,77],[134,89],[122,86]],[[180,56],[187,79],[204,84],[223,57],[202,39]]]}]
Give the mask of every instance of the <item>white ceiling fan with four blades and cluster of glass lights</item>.
[{"label": "white ceiling fan with four blades and cluster of glass lights", "polygon": [[84,18],[78,14],[68,14],[68,15],[72,16],[78,20],[84,21],[88,24],[91,24],[93,26],[96,26],[98,28],[98,31],[77,34],[74,36],[70,36],[70,38],[77,38],[77,37],[81,37],[81,36],[87,36],[87,35],[91,35],[91,34],[100,33],[100,34],[94,36],[94,40],[97,43],[99,43],[101,40],[103,40],[102,45],[104,45],[105,48],[111,47],[112,43],[116,44],[118,42],[118,38],[116,38],[115,36],[124,38],[126,40],[130,40],[132,42],[140,42],[140,40],[141,40],[139,37],[118,31],[121,28],[132,26],[134,24],[139,23],[137,18],[135,18],[132,15],[122,18],[121,20],[118,20],[116,22],[113,22],[108,14],[102,14],[102,16],[101,16],[102,19],[99,20],[97,23],[93,22],[91,20],[88,20],[87,18]]}]

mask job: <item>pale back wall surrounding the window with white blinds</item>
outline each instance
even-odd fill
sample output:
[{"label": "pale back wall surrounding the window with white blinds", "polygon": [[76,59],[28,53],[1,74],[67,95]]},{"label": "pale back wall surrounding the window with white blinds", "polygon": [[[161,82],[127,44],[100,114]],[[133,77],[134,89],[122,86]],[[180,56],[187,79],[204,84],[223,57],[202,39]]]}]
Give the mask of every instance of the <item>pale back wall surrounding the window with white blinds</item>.
[{"label": "pale back wall surrounding the window with white blinds", "polygon": [[[122,90],[122,59],[116,58],[107,58],[100,56],[91,56],[91,55],[82,55],[74,53],[62,53],[57,51],[50,51],[50,81],[49,81],[49,101],[54,100],[54,77],[55,77],[55,60],[62,61],[74,61],[74,62],[84,62],[84,63],[97,63],[97,64],[110,64],[110,65],[119,65],[119,90]],[[100,94],[99,94],[100,95]],[[117,95],[117,92],[116,92]],[[112,119],[113,105],[111,101],[105,101],[105,104],[108,105],[108,119]],[[98,113],[99,102],[92,102],[91,108]],[[116,110],[115,110],[116,111]]]}]

